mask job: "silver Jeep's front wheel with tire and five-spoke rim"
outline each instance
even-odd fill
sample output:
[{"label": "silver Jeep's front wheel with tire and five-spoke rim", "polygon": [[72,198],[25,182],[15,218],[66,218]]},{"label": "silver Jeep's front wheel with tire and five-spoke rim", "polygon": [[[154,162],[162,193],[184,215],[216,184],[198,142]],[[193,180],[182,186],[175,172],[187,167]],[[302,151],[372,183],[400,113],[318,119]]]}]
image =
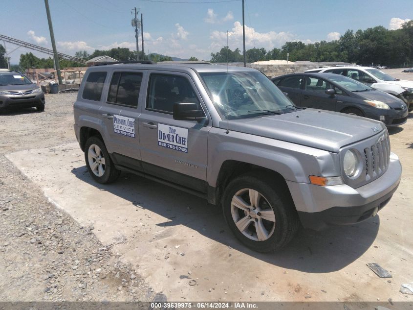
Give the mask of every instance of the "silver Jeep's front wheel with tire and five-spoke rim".
[{"label": "silver Jeep's front wheel with tire and five-spoke rim", "polygon": [[284,186],[271,185],[274,178],[245,174],[225,189],[222,209],[234,235],[257,252],[277,251],[295,236],[299,219]]}]

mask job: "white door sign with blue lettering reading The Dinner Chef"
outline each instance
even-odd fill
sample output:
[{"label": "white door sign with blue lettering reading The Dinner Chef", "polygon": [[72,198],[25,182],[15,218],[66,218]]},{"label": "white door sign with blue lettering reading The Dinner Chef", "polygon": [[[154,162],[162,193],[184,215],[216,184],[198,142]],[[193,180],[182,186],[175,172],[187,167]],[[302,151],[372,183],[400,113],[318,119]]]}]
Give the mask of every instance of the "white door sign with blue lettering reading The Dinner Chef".
[{"label": "white door sign with blue lettering reading The Dinner Chef", "polygon": [[188,153],[188,129],[158,124],[158,145]]}]

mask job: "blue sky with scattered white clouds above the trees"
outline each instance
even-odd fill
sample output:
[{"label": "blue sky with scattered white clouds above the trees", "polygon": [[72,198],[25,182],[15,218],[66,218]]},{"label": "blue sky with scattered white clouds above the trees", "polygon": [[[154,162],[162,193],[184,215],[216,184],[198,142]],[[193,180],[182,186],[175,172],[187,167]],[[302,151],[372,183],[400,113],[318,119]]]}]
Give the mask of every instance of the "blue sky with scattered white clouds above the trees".
[{"label": "blue sky with scattered white clouds above the trees", "polygon": [[[136,50],[134,7],[139,18],[143,14],[147,54],[209,60],[227,42],[242,50],[241,0],[49,0],[49,6],[57,50],[69,55],[116,47]],[[2,0],[1,7],[0,34],[51,48],[44,0]],[[348,29],[397,29],[411,19],[413,0],[245,0],[246,49],[331,41]],[[48,57],[22,47],[13,51],[16,47],[6,43],[12,64],[29,51]]]}]

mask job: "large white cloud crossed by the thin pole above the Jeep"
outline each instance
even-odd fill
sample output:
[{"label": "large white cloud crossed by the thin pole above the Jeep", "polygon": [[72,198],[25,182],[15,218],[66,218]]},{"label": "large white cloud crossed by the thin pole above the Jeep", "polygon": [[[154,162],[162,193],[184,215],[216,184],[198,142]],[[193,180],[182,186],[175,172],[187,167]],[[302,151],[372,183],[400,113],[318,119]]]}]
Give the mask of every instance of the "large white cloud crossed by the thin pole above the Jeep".
[{"label": "large white cloud crossed by the thin pole above the Jeep", "polygon": [[[222,48],[227,45],[227,33],[224,31],[213,31],[210,36],[212,43],[210,48]],[[242,24],[234,23],[232,31],[228,32],[229,45],[232,48],[242,46]],[[251,47],[274,48],[281,47],[287,41],[298,41],[297,35],[290,32],[257,32],[254,28],[245,25],[245,45]],[[304,40],[305,41],[305,40]]]}]

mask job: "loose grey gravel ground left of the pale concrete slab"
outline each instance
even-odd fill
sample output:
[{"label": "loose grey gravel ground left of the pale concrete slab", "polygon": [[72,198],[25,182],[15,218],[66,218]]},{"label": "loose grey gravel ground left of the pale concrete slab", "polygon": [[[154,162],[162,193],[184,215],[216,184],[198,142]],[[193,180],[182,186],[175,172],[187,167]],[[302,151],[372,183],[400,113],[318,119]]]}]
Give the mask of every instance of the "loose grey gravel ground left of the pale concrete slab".
[{"label": "loose grey gravel ground left of the pale concrete slab", "polygon": [[4,157],[75,142],[76,95],[46,95],[41,113],[0,115],[0,301],[153,300],[152,287],[102,246],[94,227],[57,209]]}]

